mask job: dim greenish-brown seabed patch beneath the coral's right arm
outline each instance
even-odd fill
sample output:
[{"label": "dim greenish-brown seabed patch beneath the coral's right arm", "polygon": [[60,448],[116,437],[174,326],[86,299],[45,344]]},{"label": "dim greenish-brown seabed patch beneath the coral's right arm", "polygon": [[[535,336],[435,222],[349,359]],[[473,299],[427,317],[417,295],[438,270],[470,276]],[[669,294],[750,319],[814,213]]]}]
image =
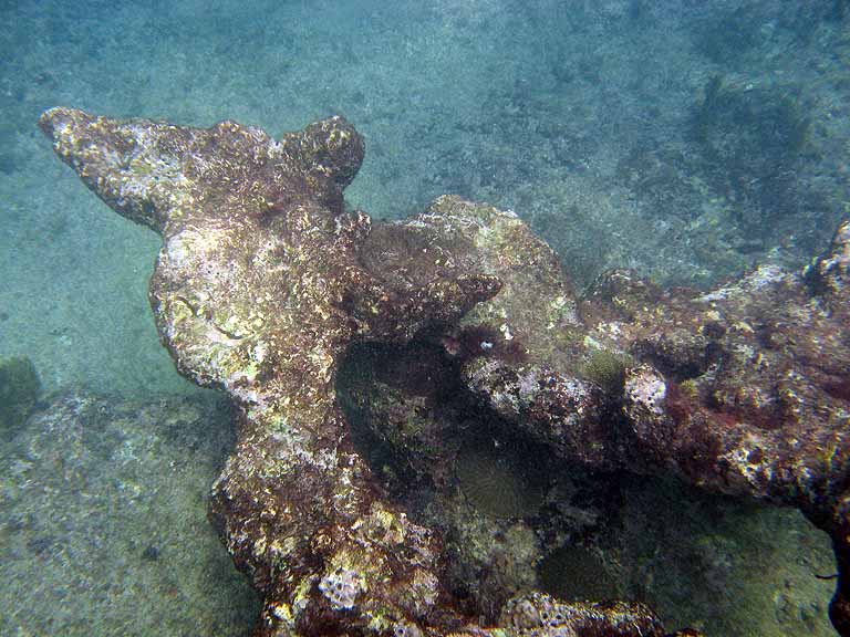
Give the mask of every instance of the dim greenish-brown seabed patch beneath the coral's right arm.
[{"label": "dim greenish-brown seabed patch beneath the coral's right arm", "polygon": [[799,511],[654,478],[626,488],[622,523],[603,533],[619,545],[626,597],[652,604],[665,624],[723,636],[836,635],[829,537]]}]

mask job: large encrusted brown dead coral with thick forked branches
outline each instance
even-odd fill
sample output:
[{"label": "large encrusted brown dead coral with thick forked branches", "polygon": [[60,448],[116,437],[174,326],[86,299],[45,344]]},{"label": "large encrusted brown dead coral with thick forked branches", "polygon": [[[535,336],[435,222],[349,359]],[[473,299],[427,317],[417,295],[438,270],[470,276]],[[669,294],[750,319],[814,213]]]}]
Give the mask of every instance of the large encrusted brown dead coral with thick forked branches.
[{"label": "large encrusted brown dead coral with thick forked branches", "polygon": [[[364,145],[340,117],[279,139],[70,108],[40,125],[160,234],[163,344],[238,406],[210,516],[263,595],[259,635],[665,634],[639,603],[457,599],[440,530],[387,494],[338,397],[352,347],[411,343],[554,458],[800,508],[832,537],[830,616],[850,635],[850,221],[802,273],[763,267],[705,293],[614,271],[579,297],[512,212],[457,197],[398,222],[346,209]],[[438,488],[444,434],[383,437],[424,450],[415,472]]]}]

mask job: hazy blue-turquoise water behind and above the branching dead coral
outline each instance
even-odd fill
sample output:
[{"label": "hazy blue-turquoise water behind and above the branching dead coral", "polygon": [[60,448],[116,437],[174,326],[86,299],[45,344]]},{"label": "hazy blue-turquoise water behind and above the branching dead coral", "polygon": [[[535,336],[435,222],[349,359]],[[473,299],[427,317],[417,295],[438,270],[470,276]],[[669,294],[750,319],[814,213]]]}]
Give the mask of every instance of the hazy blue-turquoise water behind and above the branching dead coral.
[{"label": "hazy blue-turquoise water behind and above the branching dead coral", "polygon": [[[37,129],[56,105],[272,133],[342,114],[367,148],[352,206],[400,218],[453,192],[511,208],[579,286],[610,267],[699,286],[756,262],[799,267],[848,212],[847,12],[836,0],[2,2],[0,357],[29,356],[48,393],[210,399],[157,340],[158,239],[82,188]],[[779,543],[805,529],[788,520]]]}]

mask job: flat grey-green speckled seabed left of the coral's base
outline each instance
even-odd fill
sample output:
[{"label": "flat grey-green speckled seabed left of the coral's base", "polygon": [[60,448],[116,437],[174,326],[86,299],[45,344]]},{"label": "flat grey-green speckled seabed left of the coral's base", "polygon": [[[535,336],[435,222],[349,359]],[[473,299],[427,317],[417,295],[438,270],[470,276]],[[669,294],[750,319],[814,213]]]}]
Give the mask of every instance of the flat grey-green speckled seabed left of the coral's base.
[{"label": "flat grey-green speckled seabed left of the coral's base", "polygon": [[0,441],[0,635],[247,635],[259,601],[206,516],[216,400],[55,396]]}]

